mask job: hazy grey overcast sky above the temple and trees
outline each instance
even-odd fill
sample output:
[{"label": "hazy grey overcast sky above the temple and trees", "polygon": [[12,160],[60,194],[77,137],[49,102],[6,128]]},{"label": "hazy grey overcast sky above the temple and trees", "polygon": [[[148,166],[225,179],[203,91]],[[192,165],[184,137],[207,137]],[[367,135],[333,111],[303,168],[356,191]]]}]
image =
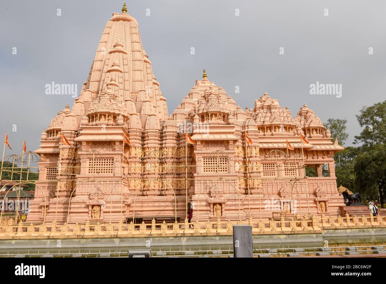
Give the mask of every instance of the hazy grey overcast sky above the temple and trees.
[{"label": "hazy grey overcast sky above the temple and trees", "polygon": [[[19,154],[23,140],[27,150],[39,148],[42,130],[74,101],[46,95],[45,85],[78,84],[79,96],[106,22],[123,2],[1,2],[0,139],[7,132],[14,149],[6,154]],[[385,8],[383,0],[127,1],[169,113],[206,68],[242,108],[266,91],[293,116],[306,103],[322,122],[347,118],[346,145],[361,131],[362,106],[386,99]],[[310,95],[317,81],[342,84],[342,97]]]}]

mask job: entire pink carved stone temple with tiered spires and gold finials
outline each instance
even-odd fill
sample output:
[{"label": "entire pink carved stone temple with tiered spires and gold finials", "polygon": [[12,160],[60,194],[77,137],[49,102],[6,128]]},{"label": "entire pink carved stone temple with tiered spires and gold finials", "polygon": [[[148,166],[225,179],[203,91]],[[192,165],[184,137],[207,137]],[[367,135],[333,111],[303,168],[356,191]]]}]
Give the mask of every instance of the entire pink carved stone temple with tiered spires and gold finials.
[{"label": "entire pink carved stone temple with tiered spires and gold finials", "polygon": [[[343,148],[331,142],[312,110],[303,105],[293,118],[267,93],[242,110],[204,70],[169,116],[137,21],[122,11],[106,24],[79,98],[41,135],[27,222],[117,223],[133,211],[136,217],[176,213],[184,220],[186,198],[194,202],[193,220],[198,213],[201,221],[267,220],[272,211],[341,213],[333,156]],[[185,132],[196,141],[188,144],[186,160]],[[60,144],[61,134],[69,146]],[[253,142],[247,153],[244,134]],[[317,173],[307,180],[300,134],[310,142],[303,144],[304,163]],[[286,140],[295,148],[289,159]],[[322,176],[323,164],[328,176]]]}]

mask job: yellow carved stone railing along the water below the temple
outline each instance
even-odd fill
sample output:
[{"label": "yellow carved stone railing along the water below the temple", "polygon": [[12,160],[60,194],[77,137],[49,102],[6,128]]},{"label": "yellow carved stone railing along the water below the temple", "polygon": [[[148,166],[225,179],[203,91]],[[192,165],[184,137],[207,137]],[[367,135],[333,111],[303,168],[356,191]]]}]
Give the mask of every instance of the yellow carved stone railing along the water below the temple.
[{"label": "yellow carved stone railing along the water below the temple", "polygon": [[[312,216],[310,220],[254,220],[249,218],[246,221],[206,221],[188,223],[151,223],[125,224],[119,221],[118,224],[97,223],[91,224],[86,221],[82,224],[64,223],[63,225],[47,224],[24,224],[23,222],[13,225],[12,219],[0,226],[0,239],[17,238],[112,238],[112,237],[178,237],[178,236],[213,236],[232,235],[234,224],[249,224],[252,226],[252,235],[261,234],[301,234],[301,233],[322,233],[325,229],[347,229],[347,228],[386,228],[386,217],[384,216],[349,216],[334,217],[322,215]],[[190,227],[189,227],[190,225]]]}]

